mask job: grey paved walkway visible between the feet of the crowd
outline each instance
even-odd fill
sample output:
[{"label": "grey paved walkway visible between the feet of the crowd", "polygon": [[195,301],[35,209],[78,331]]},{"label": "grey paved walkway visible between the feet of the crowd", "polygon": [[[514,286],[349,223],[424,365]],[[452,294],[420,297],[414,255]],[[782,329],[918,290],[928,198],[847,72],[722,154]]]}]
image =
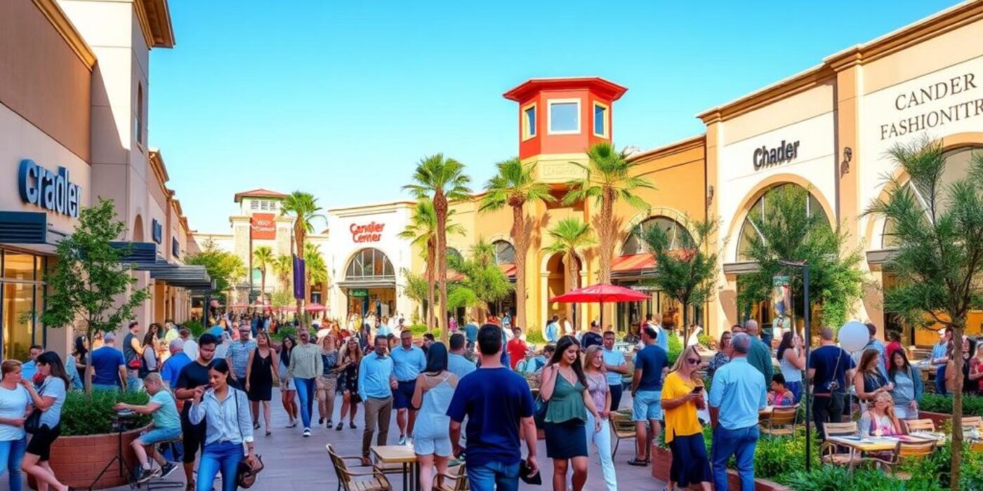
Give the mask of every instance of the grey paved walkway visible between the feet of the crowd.
[{"label": "grey paved walkway visible between the feet of the crowd", "polygon": [[[626,394],[626,396],[628,396]],[[345,428],[341,431],[325,429],[323,426],[314,429],[311,438],[301,436],[302,429],[285,428],[287,423],[286,412],[280,405],[280,395],[276,388],[273,389],[273,409],[272,427],[273,434],[263,436],[263,428],[258,430],[256,437],[257,453],[262,456],[265,470],[260,474],[251,490],[257,491],[311,491],[329,490],[337,488],[338,480],[335,477],[334,469],[327,458],[324,444],[330,443],[335,446],[342,455],[359,455],[362,448],[362,427],[363,416],[360,411],[356,416],[355,423],[358,429]],[[334,413],[338,414],[341,410],[341,399],[335,404]],[[622,407],[627,407],[628,401],[622,402]],[[317,413],[317,405],[315,407]],[[337,417],[335,417],[335,422]],[[317,419],[315,421],[317,423]],[[389,443],[395,444],[399,438],[399,430],[396,426],[396,415],[393,413],[392,422],[389,427]],[[627,464],[634,452],[634,441],[625,441],[618,449],[614,459],[614,466],[617,471],[618,489],[662,489],[664,483],[652,477],[650,467],[635,467]],[[523,450],[525,454],[525,450]],[[520,489],[529,490],[549,490],[552,476],[552,464],[547,459],[546,444],[542,440],[539,442],[537,454],[540,465],[543,466],[544,486],[532,486],[520,482]],[[57,472],[57,469],[55,469]],[[402,489],[402,481],[398,475],[390,475],[393,489]],[[184,479],[183,472],[178,469],[169,476],[169,479]],[[0,489],[7,489],[6,478],[0,479]],[[115,488],[122,491],[127,487]],[[215,482],[215,489],[220,490],[220,482]],[[587,485],[584,488],[590,491],[605,491],[606,486],[601,472],[601,464],[596,456],[592,456],[591,464],[588,467]]]}]

